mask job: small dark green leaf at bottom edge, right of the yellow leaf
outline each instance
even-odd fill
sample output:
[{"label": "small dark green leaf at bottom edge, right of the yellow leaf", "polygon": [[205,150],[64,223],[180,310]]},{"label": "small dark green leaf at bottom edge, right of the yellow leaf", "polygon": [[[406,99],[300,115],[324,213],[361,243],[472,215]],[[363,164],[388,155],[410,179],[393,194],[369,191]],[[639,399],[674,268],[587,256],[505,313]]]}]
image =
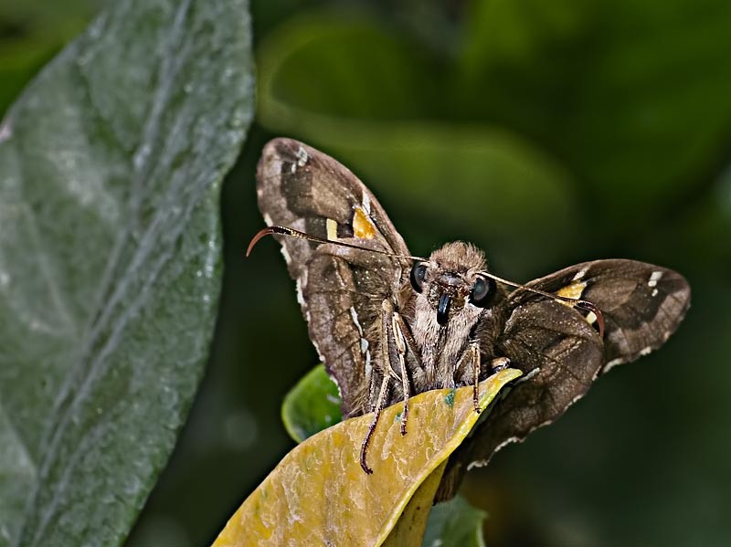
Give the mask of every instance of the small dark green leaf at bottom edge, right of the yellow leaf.
[{"label": "small dark green leaf at bottom edge, right of the yellow leaf", "polygon": [[438,503],[429,513],[424,547],[484,547],[482,521],[487,513],[461,496]]}]

